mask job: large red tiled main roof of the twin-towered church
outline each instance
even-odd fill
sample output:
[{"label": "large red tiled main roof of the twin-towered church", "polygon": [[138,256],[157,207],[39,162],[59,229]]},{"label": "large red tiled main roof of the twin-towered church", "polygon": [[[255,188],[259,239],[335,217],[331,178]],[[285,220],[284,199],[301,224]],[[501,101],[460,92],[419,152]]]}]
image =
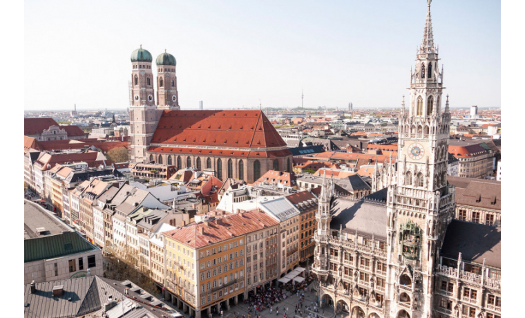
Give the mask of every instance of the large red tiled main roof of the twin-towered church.
[{"label": "large red tiled main roof of the twin-towered church", "polygon": [[262,111],[164,111],[151,144],[286,147]]}]

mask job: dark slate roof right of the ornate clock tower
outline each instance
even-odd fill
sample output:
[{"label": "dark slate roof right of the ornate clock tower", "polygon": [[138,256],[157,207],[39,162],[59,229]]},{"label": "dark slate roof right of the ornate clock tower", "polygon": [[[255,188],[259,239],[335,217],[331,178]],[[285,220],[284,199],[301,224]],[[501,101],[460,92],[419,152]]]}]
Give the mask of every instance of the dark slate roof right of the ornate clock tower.
[{"label": "dark slate roof right of the ornate clock tower", "polygon": [[499,227],[452,220],[441,247],[441,256],[502,268],[502,230]]}]

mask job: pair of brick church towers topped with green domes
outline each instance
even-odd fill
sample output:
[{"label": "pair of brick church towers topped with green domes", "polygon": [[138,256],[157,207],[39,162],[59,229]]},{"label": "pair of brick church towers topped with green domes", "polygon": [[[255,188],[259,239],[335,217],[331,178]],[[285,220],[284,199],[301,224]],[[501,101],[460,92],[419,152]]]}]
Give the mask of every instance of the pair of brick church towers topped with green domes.
[{"label": "pair of brick church towers topped with green domes", "polygon": [[177,92],[177,61],[169,53],[162,53],[155,60],[157,64],[157,104],[153,88],[153,58],[148,50],[140,48],[131,53],[132,98],[130,107],[131,162],[146,162],[147,148],[155,133],[164,110],[179,110]]}]

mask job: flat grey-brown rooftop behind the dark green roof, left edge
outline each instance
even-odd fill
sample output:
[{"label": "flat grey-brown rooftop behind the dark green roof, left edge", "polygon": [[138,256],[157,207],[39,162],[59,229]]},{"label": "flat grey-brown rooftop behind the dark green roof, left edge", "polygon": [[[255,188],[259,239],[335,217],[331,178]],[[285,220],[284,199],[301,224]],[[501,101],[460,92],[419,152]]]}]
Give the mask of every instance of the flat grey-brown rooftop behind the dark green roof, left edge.
[{"label": "flat grey-brown rooftop behind the dark green roof, left edge", "polygon": [[[43,228],[43,229],[42,229]],[[37,230],[39,229],[39,230]],[[41,232],[44,230],[44,232]],[[23,238],[36,238],[74,230],[36,203],[23,202]]]}]

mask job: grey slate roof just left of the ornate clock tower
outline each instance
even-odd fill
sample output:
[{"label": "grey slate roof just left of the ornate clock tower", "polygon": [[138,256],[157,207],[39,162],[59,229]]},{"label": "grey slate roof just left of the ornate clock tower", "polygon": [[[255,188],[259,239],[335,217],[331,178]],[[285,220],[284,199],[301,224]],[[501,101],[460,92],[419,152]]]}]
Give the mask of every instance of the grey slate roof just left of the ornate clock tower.
[{"label": "grey slate roof just left of the ornate clock tower", "polygon": [[344,200],[336,198],[332,203],[332,222],[330,228],[349,233],[365,234],[385,240],[386,233],[386,205],[369,203],[366,200]]}]

